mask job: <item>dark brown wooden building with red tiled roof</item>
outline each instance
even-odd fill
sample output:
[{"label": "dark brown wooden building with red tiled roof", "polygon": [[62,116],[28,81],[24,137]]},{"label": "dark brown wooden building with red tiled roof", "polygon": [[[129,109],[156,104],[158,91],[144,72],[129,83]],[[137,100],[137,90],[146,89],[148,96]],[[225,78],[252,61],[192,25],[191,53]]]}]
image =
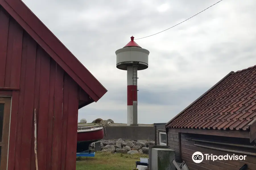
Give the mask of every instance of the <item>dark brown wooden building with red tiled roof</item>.
[{"label": "dark brown wooden building with red tiled roof", "polygon": [[[167,145],[189,170],[256,169],[256,66],[230,72],[166,124]],[[172,136],[172,137],[171,137]],[[175,136],[175,137],[174,137]],[[194,152],[246,155],[246,160],[195,163]]]}]

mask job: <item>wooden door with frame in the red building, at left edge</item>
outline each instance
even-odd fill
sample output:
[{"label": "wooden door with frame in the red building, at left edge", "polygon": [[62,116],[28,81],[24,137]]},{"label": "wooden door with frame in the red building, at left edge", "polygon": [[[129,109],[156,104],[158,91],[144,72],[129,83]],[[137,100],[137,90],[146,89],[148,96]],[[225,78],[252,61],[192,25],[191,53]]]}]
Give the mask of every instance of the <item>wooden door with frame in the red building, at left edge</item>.
[{"label": "wooden door with frame in the red building, at left edge", "polygon": [[11,97],[0,97],[0,170],[7,169]]}]

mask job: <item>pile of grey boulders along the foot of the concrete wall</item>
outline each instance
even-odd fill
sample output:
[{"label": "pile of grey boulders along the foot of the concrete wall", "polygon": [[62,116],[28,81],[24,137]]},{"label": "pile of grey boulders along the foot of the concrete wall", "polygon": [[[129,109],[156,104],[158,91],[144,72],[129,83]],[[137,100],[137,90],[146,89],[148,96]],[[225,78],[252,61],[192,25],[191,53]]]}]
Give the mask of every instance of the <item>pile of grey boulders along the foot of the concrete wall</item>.
[{"label": "pile of grey boulders along the foot of the concrete wall", "polygon": [[[151,140],[100,140],[102,152],[116,152],[127,154],[148,154],[148,147],[155,145],[155,141]],[[91,149],[95,148],[95,142],[91,144]],[[92,149],[93,150],[93,149]]]}]

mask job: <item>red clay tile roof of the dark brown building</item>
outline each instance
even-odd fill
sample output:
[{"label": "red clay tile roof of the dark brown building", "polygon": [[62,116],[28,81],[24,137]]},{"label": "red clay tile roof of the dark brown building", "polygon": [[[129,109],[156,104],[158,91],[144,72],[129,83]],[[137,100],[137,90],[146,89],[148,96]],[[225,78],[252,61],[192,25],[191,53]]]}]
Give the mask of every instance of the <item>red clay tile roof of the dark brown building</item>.
[{"label": "red clay tile roof of the dark brown building", "polygon": [[170,120],[168,128],[247,130],[256,119],[256,65],[230,72]]}]

